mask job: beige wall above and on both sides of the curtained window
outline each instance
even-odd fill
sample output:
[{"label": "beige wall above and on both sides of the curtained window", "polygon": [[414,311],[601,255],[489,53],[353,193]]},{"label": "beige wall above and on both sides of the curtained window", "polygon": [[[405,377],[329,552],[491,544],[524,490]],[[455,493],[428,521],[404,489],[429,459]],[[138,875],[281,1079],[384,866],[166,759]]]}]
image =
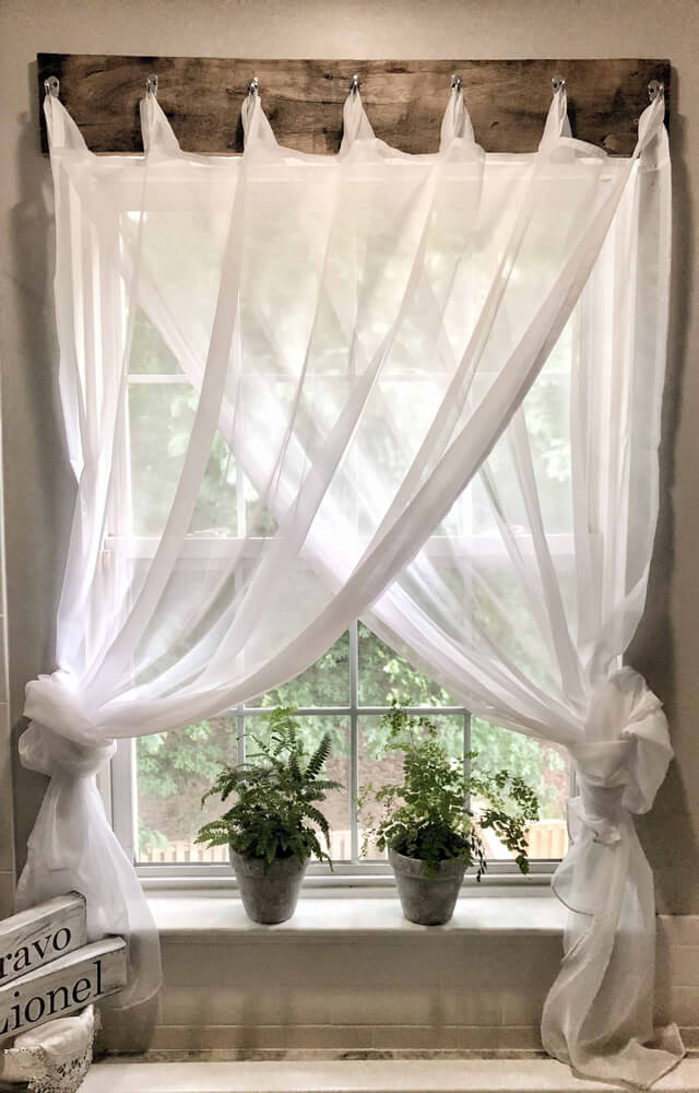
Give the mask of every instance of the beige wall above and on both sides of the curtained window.
[{"label": "beige wall above and on both sides of the curtained window", "polygon": [[[699,912],[699,213],[697,0],[0,0],[0,209],[10,702],[51,669],[70,508],[56,406],[50,185],[37,51],[230,57],[668,57],[675,191],[664,506],[633,660],[666,704],[677,764],[641,834],[661,909]],[[565,64],[552,64],[552,72]],[[574,94],[574,89],[572,89]],[[643,104],[639,103],[639,109]],[[7,250],[5,250],[7,247]],[[4,769],[0,757],[0,775]],[[42,779],[15,772],[23,855]],[[0,787],[0,798],[4,795]],[[1,844],[0,844],[1,845]],[[3,862],[0,860],[0,870]]]}]

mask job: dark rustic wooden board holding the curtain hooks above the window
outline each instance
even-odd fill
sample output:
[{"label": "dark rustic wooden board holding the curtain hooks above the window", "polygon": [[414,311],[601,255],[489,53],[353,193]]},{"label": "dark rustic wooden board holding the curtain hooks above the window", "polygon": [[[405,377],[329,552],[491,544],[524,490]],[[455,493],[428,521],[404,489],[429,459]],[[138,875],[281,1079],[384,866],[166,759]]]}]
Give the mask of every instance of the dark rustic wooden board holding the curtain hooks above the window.
[{"label": "dark rustic wooden board holding the curtain hooks above the window", "polygon": [[[142,151],[139,99],[146,77],[158,77],[158,102],[183,149],[240,152],[240,104],[253,75],[282,144],[336,152],[342,104],[353,73],[378,137],[405,152],[435,152],[450,92],[463,80],[476,140],[488,152],[536,149],[550,103],[550,79],[567,81],[576,137],[612,155],[628,155],[648,83],[662,80],[666,60],[252,60],[217,57],[118,57],[38,54],[39,95],[56,75],[60,95],[94,152]],[[47,151],[44,113],[43,149]]]}]

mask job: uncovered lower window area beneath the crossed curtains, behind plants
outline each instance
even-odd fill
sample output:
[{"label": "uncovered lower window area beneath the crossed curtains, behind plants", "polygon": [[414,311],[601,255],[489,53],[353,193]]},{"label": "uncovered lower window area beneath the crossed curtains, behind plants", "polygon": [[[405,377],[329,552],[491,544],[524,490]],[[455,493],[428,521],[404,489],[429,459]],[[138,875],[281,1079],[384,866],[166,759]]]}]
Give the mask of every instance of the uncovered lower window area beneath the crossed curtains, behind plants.
[{"label": "uncovered lower window area beneath the crossed curtains, behind plants", "polygon": [[[476,751],[484,766],[508,765],[525,777],[542,800],[543,819],[530,835],[533,858],[559,858],[566,849],[564,822],[569,771],[565,753],[548,743],[488,725],[471,717],[441,687],[407,661],[395,656],[362,623],[328,650],[296,680],[249,705],[175,732],[135,741],[138,801],[137,860],[140,863],[216,863],[227,861],[225,848],[206,850],[194,835],[204,819],[216,814],[218,803],[200,799],[222,761],[242,759],[246,737],[263,732],[265,710],[294,704],[312,745],[330,731],[333,754],[329,773],[342,783],[325,806],[334,861],[363,866],[380,855],[363,849],[363,830],[355,798],[368,781],[380,785],[400,776],[400,756],[386,753],[381,714],[393,696],[412,708],[429,710],[443,729],[454,757]],[[196,748],[191,748],[191,743]],[[507,859],[507,851],[490,838],[489,856]]]}]

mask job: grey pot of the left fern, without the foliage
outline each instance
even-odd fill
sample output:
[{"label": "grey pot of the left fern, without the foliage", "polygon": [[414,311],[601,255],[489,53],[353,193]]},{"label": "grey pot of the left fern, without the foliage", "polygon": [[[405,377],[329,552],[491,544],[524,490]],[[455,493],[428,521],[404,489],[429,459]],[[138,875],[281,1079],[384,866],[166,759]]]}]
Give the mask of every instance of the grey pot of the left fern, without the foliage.
[{"label": "grey pot of the left fern, without the foliage", "polygon": [[260,858],[244,858],[232,846],[228,849],[248,918],[263,926],[291,918],[296,910],[308,859],[277,858],[265,870]]}]

